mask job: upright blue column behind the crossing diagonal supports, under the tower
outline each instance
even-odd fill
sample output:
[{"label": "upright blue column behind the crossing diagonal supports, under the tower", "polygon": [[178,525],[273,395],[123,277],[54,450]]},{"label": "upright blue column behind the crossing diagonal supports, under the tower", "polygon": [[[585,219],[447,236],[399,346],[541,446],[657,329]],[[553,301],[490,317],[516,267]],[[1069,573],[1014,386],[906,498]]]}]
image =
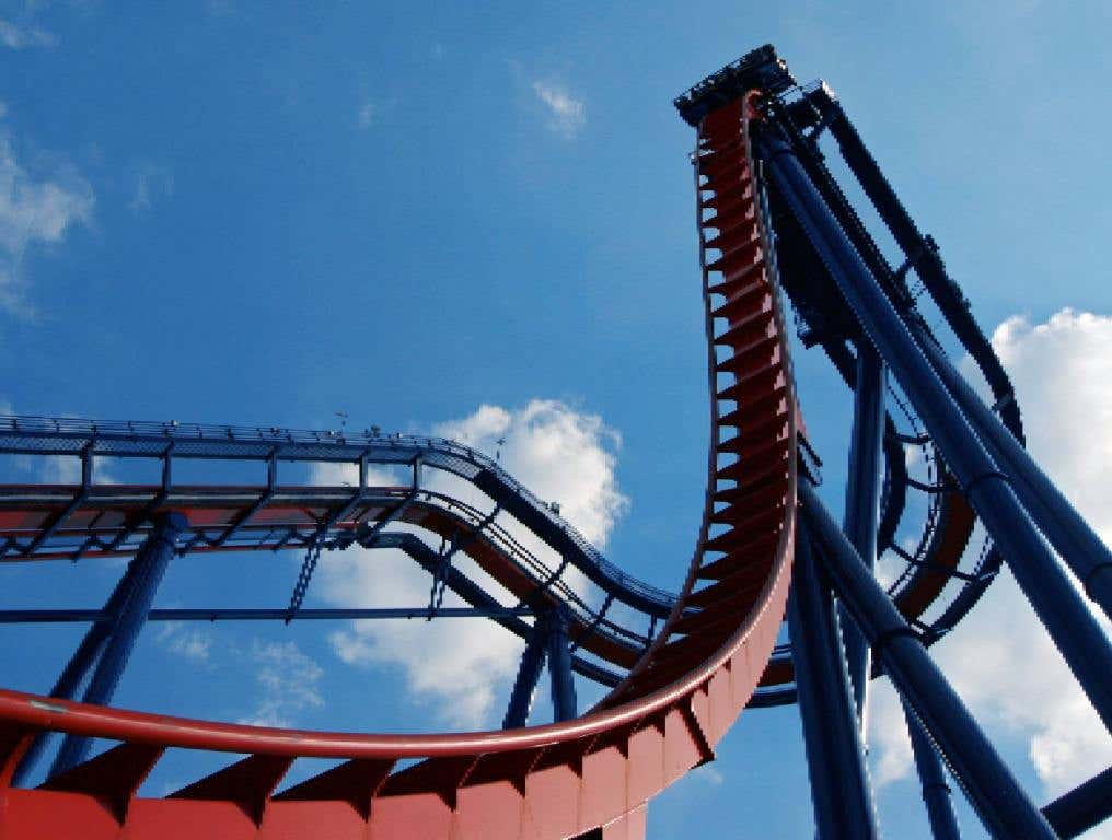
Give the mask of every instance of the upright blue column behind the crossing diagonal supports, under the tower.
[{"label": "upright blue column behind the crossing diagonal supports, under the tower", "polygon": [[[845,536],[861,559],[876,564],[876,524],[881,510],[881,450],[884,442],[884,362],[867,341],[857,346],[853,433],[845,484]],[[861,730],[865,731],[870,650],[853,619],[841,609],[845,659]]]}]

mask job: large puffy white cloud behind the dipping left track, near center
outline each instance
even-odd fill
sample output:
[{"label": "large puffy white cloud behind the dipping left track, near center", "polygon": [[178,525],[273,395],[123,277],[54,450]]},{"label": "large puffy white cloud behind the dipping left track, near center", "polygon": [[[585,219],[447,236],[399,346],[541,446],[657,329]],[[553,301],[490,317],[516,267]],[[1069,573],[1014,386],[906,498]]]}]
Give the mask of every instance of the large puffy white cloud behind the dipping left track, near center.
[{"label": "large puffy white cloud behind the dipping left track, near center", "polygon": [[[517,410],[481,406],[466,418],[437,426],[435,433],[498,454],[510,474],[540,498],[559,501],[564,517],[595,544],[605,543],[628,508],[615,477],[614,450],[620,441],[598,416],[552,400],[534,400]],[[484,502],[470,486],[427,472],[430,487],[447,490],[450,486],[456,498],[484,511],[490,509],[489,500]],[[530,550],[543,550],[512,520],[498,522]],[[500,591],[469,559],[453,562],[487,591]],[[331,603],[424,606],[431,586],[429,576],[409,558],[385,550],[351,548],[326,554],[318,574],[320,592]],[[503,601],[513,603],[504,594]],[[444,604],[463,601],[448,592]],[[499,626],[476,619],[353,622],[348,630],[334,633],[331,641],[349,664],[398,668],[415,702],[431,707],[449,724],[466,728],[496,722],[523,647],[520,639]]]}]

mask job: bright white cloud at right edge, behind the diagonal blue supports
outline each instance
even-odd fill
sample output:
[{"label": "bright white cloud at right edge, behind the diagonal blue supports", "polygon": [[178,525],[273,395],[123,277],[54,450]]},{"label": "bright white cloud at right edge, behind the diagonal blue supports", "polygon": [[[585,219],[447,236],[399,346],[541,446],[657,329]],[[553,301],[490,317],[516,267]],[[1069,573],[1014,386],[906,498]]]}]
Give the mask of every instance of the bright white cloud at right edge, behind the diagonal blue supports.
[{"label": "bright white cloud at right edge, behind the diagonal blue supports", "polygon": [[[1109,540],[1112,318],[1070,309],[1036,326],[1012,318],[992,343],[1015,384],[1032,454]],[[1112,763],[1112,739],[1006,571],[933,652],[990,734],[1022,739],[1045,797]],[[911,759],[896,731],[898,703],[883,698],[877,692],[871,733],[878,783],[905,774]],[[1112,828],[1103,831],[1092,836],[1112,838]]]}]

